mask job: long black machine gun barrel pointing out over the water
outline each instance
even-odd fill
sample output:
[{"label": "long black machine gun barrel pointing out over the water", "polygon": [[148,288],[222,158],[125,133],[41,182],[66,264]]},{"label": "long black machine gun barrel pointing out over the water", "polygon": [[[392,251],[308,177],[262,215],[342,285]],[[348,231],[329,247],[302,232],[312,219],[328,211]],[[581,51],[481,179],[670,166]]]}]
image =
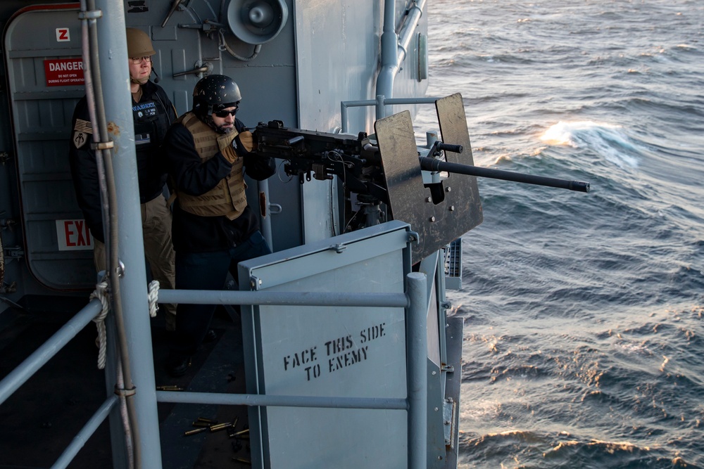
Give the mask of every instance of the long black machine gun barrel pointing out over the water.
[{"label": "long black machine gun barrel pointing out over the water", "polygon": [[460,165],[458,163],[436,160],[435,158],[428,158],[426,156],[420,157],[420,167],[422,169],[425,169],[426,171],[446,171],[457,174],[467,174],[469,176],[490,177],[492,179],[503,179],[504,181],[515,181],[522,182],[525,184],[536,184],[538,186],[570,189],[570,191],[589,192],[588,182],[568,181],[567,179],[534,176],[532,174],[502,171],[501,169],[482,168],[472,165]]}]

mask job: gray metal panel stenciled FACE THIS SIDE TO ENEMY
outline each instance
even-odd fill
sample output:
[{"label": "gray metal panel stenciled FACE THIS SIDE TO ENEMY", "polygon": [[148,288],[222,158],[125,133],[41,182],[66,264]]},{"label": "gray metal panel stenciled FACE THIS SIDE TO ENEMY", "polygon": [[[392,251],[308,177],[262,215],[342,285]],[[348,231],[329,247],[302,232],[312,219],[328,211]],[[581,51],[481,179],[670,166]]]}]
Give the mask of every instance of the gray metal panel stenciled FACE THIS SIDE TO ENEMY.
[{"label": "gray metal panel stenciled FACE THIS SIDE TO ENEMY", "polygon": [[[401,293],[408,225],[397,221],[239,265],[260,290]],[[336,248],[337,247],[337,248]],[[244,288],[244,287],[243,287]],[[400,308],[243,307],[250,392],[406,397],[406,321]],[[370,333],[380,334],[371,340]],[[256,351],[256,352],[255,352]],[[407,466],[404,411],[271,407],[250,413],[265,467]],[[256,451],[253,451],[256,458]]]}]

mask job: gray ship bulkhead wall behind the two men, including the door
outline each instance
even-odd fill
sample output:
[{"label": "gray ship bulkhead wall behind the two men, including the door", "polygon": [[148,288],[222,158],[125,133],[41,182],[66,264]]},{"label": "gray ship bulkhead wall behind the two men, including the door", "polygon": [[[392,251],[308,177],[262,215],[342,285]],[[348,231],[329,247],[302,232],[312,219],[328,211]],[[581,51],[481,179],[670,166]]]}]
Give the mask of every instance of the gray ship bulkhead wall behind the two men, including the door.
[{"label": "gray ship bulkhead wall behind the two men, including the door", "polygon": [[[278,32],[263,34],[259,46],[233,34],[240,25],[229,20],[230,10],[242,0],[184,1],[172,12],[170,1],[125,0],[125,23],[149,32],[157,51],[152,79],[158,75],[177,113],[189,110],[198,79],[222,73],[239,84],[238,117],[251,127],[282,120],[287,127],[339,131],[341,101],[375,98],[384,1],[282,1],[287,18]],[[395,6],[400,27],[407,5],[398,0]],[[82,74],[73,70],[81,57],[77,11],[78,4],[58,2],[0,6],[11,112],[0,117],[0,226],[6,252],[3,293],[13,301],[94,285],[91,239],[75,202],[67,158],[71,115],[84,94]],[[426,34],[421,18],[417,35]],[[394,98],[425,94],[419,40],[411,41],[394,79]],[[49,70],[59,67],[65,73]],[[345,124],[353,133],[371,134],[374,121],[375,109],[362,107],[353,108]],[[256,207],[260,188],[249,182],[249,203]],[[279,167],[267,185],[274,250],[344,229],[336,181],[299,184]]]}]

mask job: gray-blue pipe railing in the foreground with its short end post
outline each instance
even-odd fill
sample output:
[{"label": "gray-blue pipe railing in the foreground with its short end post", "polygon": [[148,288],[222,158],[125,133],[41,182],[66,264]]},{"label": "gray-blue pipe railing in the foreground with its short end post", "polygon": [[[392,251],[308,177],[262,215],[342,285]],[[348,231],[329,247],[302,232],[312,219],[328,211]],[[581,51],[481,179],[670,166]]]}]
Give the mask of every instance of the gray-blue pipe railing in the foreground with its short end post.
[{"label": "gray-blue pipe railing in the foreground with its short end post", "polygon": [[[420,272],[406,276],[406,293],[302,293],[238,292],[212,290],[161,290],[159,302],[189,304],[301,305],[340,307],[403,307],[406,310],[406,398],[303,397],[265,394],[156,391],[156,401],[246,406],[344,407],[347,409],[399,409],[408,412],[408,467],[425,468],[427,461],[427,279]],[[101,312],[94,299],[44,342],[22,364],[0,381],[0,404],[23,385],[47,361]],[[146,357],[141,357],[141,360]],[[139,378],[135,376],[135,378]],[[139,390],[137,390],[139,392]],[[156,401],[153,406],[156,409]],[[78,451],[119,404],[108,397],[63,451],[52,469],[66,468]],[[138,424],[138,423],[137,423]],[[153,435],[143,435],[145,439]],[[161,461],[158,442],[142,442],[143,459]],[[115,448],[113,448],[115,451]],[[151,454],[151,452],[158,454]],[[150,465],[156,467],[156,465]]]}]

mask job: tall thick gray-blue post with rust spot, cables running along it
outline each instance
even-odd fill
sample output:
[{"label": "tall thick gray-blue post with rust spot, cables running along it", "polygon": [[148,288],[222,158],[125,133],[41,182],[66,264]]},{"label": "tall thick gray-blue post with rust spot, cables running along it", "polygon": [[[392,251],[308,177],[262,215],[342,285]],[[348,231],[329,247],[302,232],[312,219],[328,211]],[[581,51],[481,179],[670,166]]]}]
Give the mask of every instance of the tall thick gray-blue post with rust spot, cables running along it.
[{"label": "tall thick gray-blue post with rust spot, cables running along it", "polygon": [[[117,224],[119,239],[118,256],[124,269],[119,273],[124,337],[122,345],[129,347],[129,360],[122,361],[125,387],[134,385],[132,397],[132,435],[136,440],[133,451],[137,455],[137,469],[160,469],[161,444],[159,418],[156,408],[156,385],[154,378],[149,300],[147,296],[144,247],[142,245],[142,214],[139,207],[137,186],[137,162],[134,149],[134,122],[132,96],[130,96],[130,73],[125,40],[125,4],[122,0],[95,0],[101,20],[97,27],[99,48],[109,53],[99,54],[100,78],[103,89],[108,133],[113,141],[112,164],[115,174],[114,190],[118,207],[111,207],[111,215],[120,220]],[[98,85],[96,83],[96,85]],[[106,240],[107,241],[107,240]],[[115,269],[118,266],[113,266]],[[111,272],[116,275],[118,272]],[[115,311],[115,314],[118,314]],[[119,335],[119,333],[118,333]],[[126,354],[125,351],[122,354]],[[124,356],[124,355],[123,355]],[[131,382],[130,382],[131,380]]]}]

